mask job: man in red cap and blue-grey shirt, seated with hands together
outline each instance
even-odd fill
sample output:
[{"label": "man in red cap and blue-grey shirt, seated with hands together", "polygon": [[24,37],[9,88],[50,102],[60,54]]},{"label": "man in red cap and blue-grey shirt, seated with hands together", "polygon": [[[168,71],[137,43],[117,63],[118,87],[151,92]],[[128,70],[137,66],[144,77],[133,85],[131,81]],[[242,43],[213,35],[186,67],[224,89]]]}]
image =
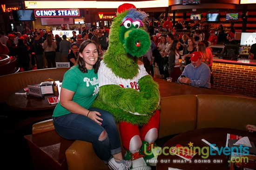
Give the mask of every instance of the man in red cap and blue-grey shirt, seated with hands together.
[{"label": "man in red cap and blue-grey shirt, seated with hands together", "polygon": [[195,86],[195,82],[199,82],[199,87],[211,88],[209,66],[201,61],[202,53],[195,51],[191,54],[191,63],[188,64],[182,75],[178,78],[178,82]]}]

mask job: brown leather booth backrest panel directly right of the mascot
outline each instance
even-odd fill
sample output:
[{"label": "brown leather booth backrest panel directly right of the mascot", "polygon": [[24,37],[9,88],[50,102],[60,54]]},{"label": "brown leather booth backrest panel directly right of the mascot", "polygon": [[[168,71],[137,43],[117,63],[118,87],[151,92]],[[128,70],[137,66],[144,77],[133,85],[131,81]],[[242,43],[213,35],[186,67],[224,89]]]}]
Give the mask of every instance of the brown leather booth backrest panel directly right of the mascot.
[{"label": "brown leather booth backrest panel directly right of the mascot", "polygon": [[159,138],[187,132],[196,126],[196,95],[164,97],[161,100]]}]

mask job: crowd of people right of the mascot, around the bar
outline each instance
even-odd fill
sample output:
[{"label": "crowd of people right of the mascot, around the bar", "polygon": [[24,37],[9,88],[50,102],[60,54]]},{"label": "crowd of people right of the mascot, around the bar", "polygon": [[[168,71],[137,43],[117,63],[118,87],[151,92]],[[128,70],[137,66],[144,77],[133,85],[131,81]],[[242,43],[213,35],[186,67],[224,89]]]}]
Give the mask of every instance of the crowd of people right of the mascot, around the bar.
[{"label": "crowd of people right of the mascot, around the bar", "polygon": [[[167,35],[153,32],[152,23],[149,23],[148,27],[148,33],[155,44],[155,49],[151,49],[151,57],[154,58],[152,62],[153,67],[159,69],[159,73],[163,79],[172,77],[173,82],[185,83],[192,86],[195,85],[196,80],[200,82],[200,87],[210,88],[213,55],[209,46],[223,44],[224,48],[221,53],[227,53],[225,48],[226,44],[236,44],[234,24],[231,23],[224,41],[218,40],[220,33],[224,33],[222,25],[220,25],[217,30],[211,29],[207,34],[207,32],[205,32],[206,30],[201,29],[201,25],[197,20],[195,20],[193,26],[190,26],[190,23],[185,25],[182,20],[178,20],[178,22],[173,25],[170,17],[167,17],[162,27],[169,31]],[[191,29],[191,32],[189,34],[175,35],[173,29]],[[197,57],[191,58],[192,54]],[[181,59],[182,62],[179,62]],[[195,59],[200,61],[195,61]],[[151,61],[150,59],[148,60]],[[195,70],[199,70],[198,68],[200,68],[201,65],[207,74],[202,73],[202,69],[199,72],[195,72]],[[205,65],[207,65],[208,68],[205,68]],[[185,69],[186,67],[187,69]],[[184,75],[189,67],[190,69],[193,68],[192,70],[195,72],[193,76]],[[151,74],[151,71],[148,71],[148,74]]]}]

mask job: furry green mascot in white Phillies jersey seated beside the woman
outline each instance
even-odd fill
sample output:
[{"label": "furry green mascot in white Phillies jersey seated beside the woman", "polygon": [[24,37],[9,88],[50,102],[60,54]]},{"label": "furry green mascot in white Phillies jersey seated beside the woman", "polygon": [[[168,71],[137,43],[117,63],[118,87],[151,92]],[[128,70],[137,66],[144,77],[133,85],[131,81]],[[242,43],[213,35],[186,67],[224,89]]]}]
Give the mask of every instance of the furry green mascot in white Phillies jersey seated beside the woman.
[{"label": "furry green mascot in white Phillies jersey seated beside the woman", "polygon": [[132,160],[133,170],[151,170],[158,154],[159,88],[138,60],[150,48],[147,17],[132,4],[118,7],[98,71],[100,92],[94,101],[94,107],[109,111],[120,123],[124,159]]}]

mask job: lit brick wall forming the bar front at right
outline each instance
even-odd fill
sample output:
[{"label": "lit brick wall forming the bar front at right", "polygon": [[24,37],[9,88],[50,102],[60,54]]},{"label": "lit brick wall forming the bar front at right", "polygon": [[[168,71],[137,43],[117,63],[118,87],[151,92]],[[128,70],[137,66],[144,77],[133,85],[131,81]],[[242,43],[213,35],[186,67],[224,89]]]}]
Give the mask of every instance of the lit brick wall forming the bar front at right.
[{"label": "lit brick wall forming the bar front at right", "polygon": [[256,97],[256,67],[213,63],[211,88]]}]

